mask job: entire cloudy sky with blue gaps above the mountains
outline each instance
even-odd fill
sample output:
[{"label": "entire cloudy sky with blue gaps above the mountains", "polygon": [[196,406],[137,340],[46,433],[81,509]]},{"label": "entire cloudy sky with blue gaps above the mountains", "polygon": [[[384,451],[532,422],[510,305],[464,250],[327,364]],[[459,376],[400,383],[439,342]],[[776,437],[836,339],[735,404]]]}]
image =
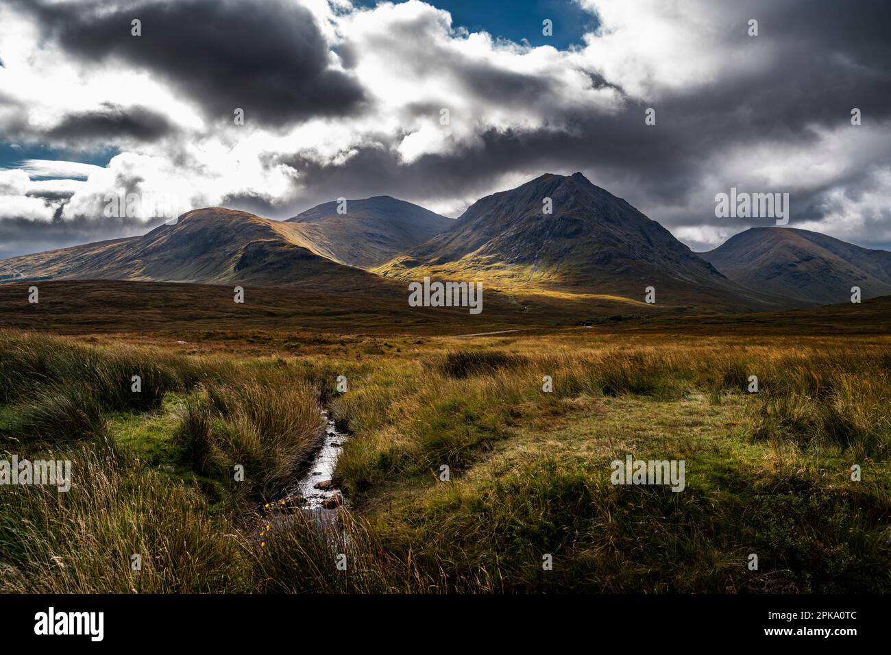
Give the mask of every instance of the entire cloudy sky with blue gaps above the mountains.
[{"label": "entire cloudy sky with blue gaps above the mountains", "polygon": [[455,217],[575,171],[693,250],[772,225],[716,218],[731,187],[891,249],[889,32],[887,0],[0,0],[0,258],[163,221],[119,190]]}]

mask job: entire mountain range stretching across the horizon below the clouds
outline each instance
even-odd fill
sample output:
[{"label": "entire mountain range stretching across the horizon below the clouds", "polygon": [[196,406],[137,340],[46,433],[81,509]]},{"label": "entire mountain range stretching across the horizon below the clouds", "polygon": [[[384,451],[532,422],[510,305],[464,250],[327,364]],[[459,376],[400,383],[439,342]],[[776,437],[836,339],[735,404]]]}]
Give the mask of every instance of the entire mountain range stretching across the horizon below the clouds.
[{"label": "entire mountain range stretching across the horizon below the clouds", "polygon": [[[14,272],[14,273],[13,273]],[[524,299],[571,297],[681,310],[767,311],[891,294],[891,253],[820,233],[752,228],[694,253],[581,173],[546,174],[457,219],[388,196],[331,201],[275,221],[195,209],[141,236],[0,261],[12,279],[394,289],[429,276]],[[649,306],[652,307],[652,306]]]}]

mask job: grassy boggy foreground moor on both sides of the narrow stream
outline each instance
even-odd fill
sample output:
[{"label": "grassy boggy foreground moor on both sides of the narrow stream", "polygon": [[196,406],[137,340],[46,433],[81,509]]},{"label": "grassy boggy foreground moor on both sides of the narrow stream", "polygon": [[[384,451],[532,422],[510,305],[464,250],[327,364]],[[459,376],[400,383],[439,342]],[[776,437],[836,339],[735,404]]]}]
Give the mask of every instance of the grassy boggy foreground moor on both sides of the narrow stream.
[{"label": "grassy boggy foreground moor on both sides of the narrow stream", "polygon": [[[71,459],[73,483],[0,487],[0,586],[891,590],[887,335],[733,326],[2,332],[0,450]],[[322,405],[352,433],[333,548],[299,514],[266,530],[256,510],[306,462]],[[613,486],[626,454],[683,460],[683,492]]]}]

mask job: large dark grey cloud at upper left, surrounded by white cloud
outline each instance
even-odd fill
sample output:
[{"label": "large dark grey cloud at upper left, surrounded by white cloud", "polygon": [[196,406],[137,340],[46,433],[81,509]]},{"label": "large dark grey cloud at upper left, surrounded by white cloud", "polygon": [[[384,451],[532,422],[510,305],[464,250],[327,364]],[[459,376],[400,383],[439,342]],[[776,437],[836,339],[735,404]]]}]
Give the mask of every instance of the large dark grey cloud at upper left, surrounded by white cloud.
[{"label": "large dark grey cloud at upper left, surrounded by white cloud", "polygon": [[[281,0],[144,0],[108,11],[102,3],[19,0],[47,34],[84,61],[118,59],[152,70],[213,119],[282,126],[344,115],[362,87],[329,68],[329,49],[313,15]],[[131,36],[131,20],[142,36]]]}]

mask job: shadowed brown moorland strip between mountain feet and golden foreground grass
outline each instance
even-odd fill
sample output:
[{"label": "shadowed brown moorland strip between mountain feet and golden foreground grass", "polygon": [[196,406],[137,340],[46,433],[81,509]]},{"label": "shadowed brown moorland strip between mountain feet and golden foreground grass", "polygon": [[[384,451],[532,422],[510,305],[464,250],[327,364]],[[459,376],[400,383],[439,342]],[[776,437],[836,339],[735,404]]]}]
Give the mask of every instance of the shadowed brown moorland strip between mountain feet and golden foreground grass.
[{"label": "shadowed brown moorland strip between mountain feet and golden foreground grass", "polygon": [[[364,278],[360,280],[362,282]],[[39,302],[29,303],[37,286]],[[647,305],[609,294],[486,287],[483,312],[415,307],[406,312],[406,282],[374,278],[373,285],[324,284],[269,288],[244,283],[245,302],[232,285],[172,282],[61,281],[0,283],[0,328],[59,334],[166,334],[194,340],[204,332],[310,332],[328,339],[355,334],[445,335],[585,322],[635,321],[689,315],[692,306]],[[714,310],[705,312],[715,318]],[[233,339],[230,339],[233,340]]]}]

